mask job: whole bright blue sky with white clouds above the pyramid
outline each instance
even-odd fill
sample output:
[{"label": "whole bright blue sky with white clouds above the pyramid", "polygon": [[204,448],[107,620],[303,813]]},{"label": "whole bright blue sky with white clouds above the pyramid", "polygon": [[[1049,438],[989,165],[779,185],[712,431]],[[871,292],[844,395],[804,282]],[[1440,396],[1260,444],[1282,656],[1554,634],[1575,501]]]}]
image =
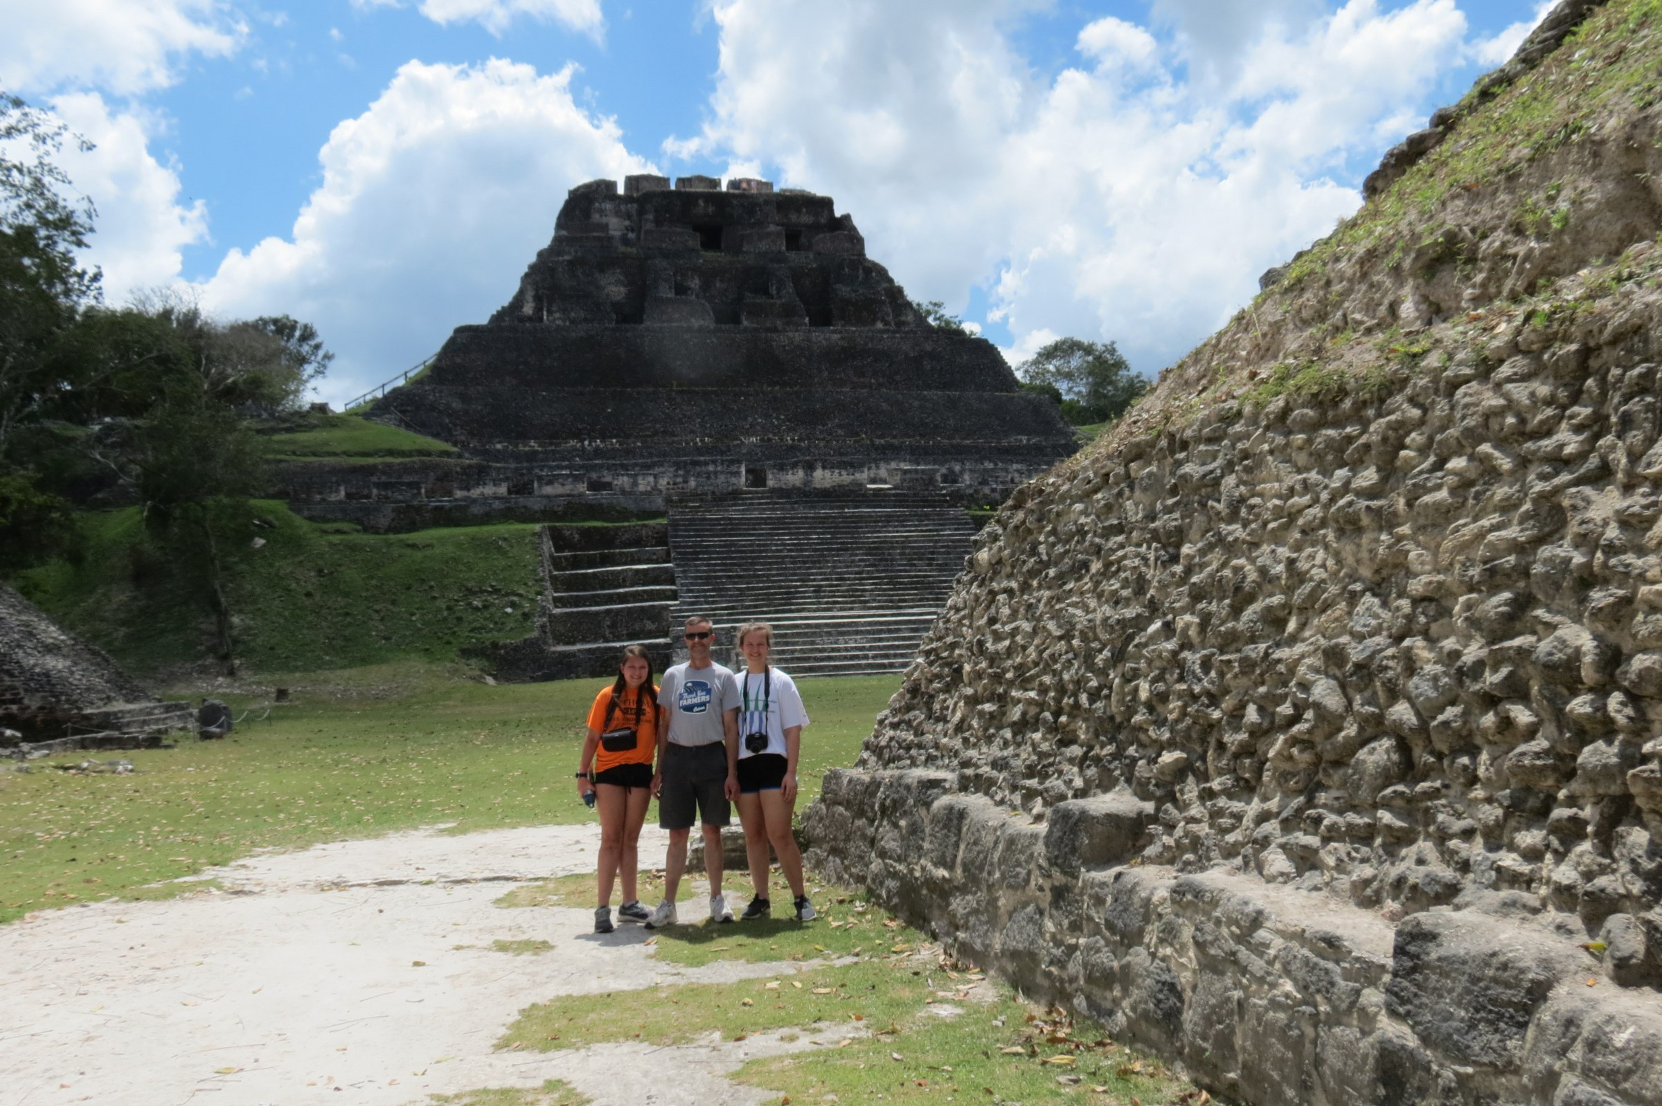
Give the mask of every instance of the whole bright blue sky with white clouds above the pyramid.
[{"label": "whole bright blue sky with white clouds above the pyramid", "polygon": [[1180,357],[1502,60],[1536,0],[0,0],[0,86],[98,143],[108,294],[311,319],[347,399],[484,321],[565,189],[823,191],[1012,359]]}]

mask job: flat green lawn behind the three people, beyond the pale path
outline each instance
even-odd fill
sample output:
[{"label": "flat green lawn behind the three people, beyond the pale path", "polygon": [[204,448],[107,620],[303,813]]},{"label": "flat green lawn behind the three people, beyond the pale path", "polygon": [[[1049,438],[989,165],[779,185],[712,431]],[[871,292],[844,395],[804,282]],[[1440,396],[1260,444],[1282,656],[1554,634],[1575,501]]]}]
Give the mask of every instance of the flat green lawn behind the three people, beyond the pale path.
[{"label": "flat green lawn behind the three people, beyond the pale path", "polygon": [[[226,741],[120,756],[131,776],[37,761],[0,769],[0,922],[108,895],[155,897],[254,849],[299,847],[450,822],[452,832],[585,822],[583,719],[600,679],[487,686],[459,666],[387,664],[274,678],[296,702],[223,696],[249,721]],[[899,676],[803,679],[814,722],[803,799],[853,764]]]}]

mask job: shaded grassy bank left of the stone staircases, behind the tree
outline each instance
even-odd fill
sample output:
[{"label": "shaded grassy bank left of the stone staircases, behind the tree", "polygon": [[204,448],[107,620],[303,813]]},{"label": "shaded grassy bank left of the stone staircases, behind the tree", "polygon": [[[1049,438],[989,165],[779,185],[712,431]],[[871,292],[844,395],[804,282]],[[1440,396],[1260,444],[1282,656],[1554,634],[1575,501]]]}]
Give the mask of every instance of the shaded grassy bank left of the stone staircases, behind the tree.
[{"label": "shaded grassy bank left of the stone staircases, behind the tree", "polygon": [[[367,535],[311,523],[279,502],[256,508],[269,526],[238,541],[228,588],[238,649],[253,669],[454,661],[465,644],[532,633],[534,525]],[[30,570],[18,590],[130,671],[156,674],[209,656],[208,608],[151,543],[138,510],[90,511],[80,525],[85,556]]]}]

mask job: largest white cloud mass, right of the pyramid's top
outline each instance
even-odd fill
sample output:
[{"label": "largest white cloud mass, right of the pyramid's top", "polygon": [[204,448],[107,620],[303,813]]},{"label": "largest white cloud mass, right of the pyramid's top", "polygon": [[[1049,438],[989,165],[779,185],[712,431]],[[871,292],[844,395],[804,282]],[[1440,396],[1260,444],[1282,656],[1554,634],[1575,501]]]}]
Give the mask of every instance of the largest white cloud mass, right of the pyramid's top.
[{"label": "largest white cloud mass, right of the pyramid's top", "polygon": [[[1413,130],[1461,56],[1454,0],[1310,7],[1162,0],[1165,42],[1095,20],[1090,65],[1039,83],[999,0],[848,0],[836,20],[725,0],[711,118],[666,151],[836,196],[916,299],[961,311],[991,286],[1012,357],[1074,334],[1152,370],[1355,209],[1331,178]],[[1202,8],[1228,33],[1202,42]]]}]

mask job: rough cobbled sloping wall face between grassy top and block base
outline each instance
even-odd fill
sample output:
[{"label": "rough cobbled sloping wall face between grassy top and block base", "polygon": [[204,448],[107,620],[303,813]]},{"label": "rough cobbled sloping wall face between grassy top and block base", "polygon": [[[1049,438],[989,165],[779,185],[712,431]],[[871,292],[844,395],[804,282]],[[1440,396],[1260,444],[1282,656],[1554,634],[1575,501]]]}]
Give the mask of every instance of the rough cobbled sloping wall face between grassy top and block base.
[{"label": "rough cobbled sloping wall face between grassy top and block base", "polygon": [[1662,292],[1423,347],[1019,492],[861,767],[1128,789],[1148,864],[1398,915],[1662,920]]}]

